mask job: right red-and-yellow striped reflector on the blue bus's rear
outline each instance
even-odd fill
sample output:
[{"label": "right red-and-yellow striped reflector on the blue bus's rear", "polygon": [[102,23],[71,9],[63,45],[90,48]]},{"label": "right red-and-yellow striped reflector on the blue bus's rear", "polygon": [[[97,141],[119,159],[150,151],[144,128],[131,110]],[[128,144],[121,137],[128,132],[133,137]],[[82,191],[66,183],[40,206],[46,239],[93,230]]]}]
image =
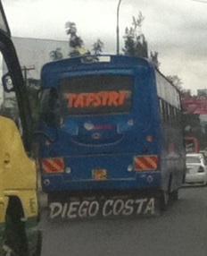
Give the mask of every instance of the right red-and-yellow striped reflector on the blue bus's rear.
[{"label": "right red-and-yellow striped reflector on the blue bus's rear", "polygon": [[137,171],[157,169],[157,156],[137,156],[134,158],[134,167]]}]

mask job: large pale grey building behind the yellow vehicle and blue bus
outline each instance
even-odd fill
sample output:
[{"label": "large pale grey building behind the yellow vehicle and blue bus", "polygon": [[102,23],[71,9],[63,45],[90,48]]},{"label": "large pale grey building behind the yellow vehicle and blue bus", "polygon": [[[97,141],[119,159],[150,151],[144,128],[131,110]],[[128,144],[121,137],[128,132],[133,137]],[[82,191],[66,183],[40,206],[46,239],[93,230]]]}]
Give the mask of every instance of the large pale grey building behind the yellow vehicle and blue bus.
[{"label": "large pale grey building behind the yellow vehicle and blue bus", "polygon": [[[67,40],[52,40],[42,38],[12,38],[17,55],[20,60],[21,70],[29,88],[29,97],[34,96],[35,86],[39,84],[41,68],[44,64],[53,61],[52,52],[58,51],[62,58],[69,55],[70,47]],[[5,64],[0,56],[0,75],[6,73]],[[31,93],[30,93],[31,92]],[[31,95],[32,94],[32,95]],[[34,98],[30,100],[31,108],[34,109]],[[15,96],[13,92],[5,93],[3,86],[0,89],[0,106],[1,110],[6,115],[11,115],[12,118],[18,118],[18,109],[16,106]],[[35,114],[34,114],[35,115]]]}]

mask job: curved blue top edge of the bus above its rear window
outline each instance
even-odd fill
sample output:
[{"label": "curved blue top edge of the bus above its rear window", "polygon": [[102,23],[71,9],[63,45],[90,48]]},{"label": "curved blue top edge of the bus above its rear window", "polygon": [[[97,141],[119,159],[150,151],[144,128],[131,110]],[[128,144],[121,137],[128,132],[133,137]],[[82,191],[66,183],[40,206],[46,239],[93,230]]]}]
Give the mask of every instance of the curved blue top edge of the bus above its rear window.
[{"label": "curved blue top edge of the bus above its rear window", "polygon": [[[70,72],[95,72],[95,70],[104,69],[122,69],[127,73],[130,68],[141,66],[146,70],[153,71],[153,64],[151,61],[127,55],[84,55],[79,57],[62,59],[43,65],[41,70],[41,80],[43,87],[49,84],[53,87],[57,80],[60,79],[60,73]],[[62,75],[61,75],[62,76]]]}]

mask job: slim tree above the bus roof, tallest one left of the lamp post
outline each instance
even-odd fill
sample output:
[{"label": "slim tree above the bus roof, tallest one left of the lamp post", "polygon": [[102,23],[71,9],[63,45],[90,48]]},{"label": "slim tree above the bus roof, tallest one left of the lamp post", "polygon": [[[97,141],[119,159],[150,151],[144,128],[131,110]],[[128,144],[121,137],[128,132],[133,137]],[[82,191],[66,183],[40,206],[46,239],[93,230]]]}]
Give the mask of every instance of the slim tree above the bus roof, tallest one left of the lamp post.
[{"label": "slim tree above the bus roof, tallest one left of the lamp post", "polygon": [[90,52],[84,47],[82,38],[77,35],[76,23],[68,21],[65,24],[65,28],[66,34],[70,36],[69,46],[72,48],[69,53],[70,57],[90,54]]}]

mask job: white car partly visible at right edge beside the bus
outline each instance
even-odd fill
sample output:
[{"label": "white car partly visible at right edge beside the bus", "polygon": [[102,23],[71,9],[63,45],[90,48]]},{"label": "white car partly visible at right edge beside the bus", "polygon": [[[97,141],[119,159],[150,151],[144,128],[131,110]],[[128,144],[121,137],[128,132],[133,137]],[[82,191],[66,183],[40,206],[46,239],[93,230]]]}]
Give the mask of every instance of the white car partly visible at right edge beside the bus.
[{"label": "white car partly visible at right edge beside the bus", "polygon": [[186,154],[186,183],[207,183],[207,166],[202,153]]}]

